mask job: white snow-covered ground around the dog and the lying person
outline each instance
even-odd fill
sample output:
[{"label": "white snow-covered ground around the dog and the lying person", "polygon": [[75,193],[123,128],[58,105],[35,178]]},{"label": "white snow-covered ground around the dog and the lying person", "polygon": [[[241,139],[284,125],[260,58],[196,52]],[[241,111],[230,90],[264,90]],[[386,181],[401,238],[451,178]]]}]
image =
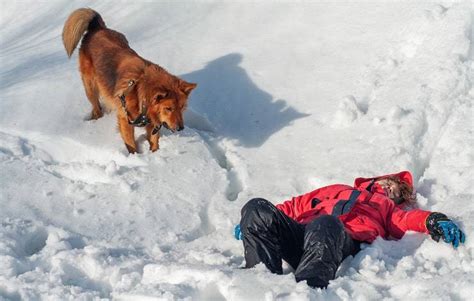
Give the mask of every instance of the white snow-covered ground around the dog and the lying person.
[{"label": "white snow-covered ground around the dog and the lying person", "polygon": [[[62,25],[97,10],[198,83],[179,134],[128,155]],[[472,300],[470,2],[0,4],[0,299]],[[467,233],[377,240],[326,290],[243,270],[240,208],[409,169]],[[471,236],[470,236],[471,235]]]}]

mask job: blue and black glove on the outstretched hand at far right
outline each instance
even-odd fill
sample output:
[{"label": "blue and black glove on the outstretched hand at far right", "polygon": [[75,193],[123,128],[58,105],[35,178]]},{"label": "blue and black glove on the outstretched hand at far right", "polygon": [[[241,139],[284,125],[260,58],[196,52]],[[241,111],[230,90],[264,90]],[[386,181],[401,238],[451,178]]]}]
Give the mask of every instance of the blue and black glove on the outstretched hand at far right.
[{"label": "blue and black glove on the outstretched hand at far right", "polygon": [[431,238],[439,241],[442,237],[444,242],[452,243],[454,248],[459,246],[459,243],[464,243],[466,236],[446,215],[433,212],[426,219],[426,228],[428,229]]}]

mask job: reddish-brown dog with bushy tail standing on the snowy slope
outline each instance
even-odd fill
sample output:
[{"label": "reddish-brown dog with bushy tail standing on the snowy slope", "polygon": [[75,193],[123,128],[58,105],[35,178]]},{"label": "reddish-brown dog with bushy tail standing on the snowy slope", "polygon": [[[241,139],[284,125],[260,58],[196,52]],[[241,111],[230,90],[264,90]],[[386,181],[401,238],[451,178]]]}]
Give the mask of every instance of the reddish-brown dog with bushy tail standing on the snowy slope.
[{"label": "reddish-brown dog with bushy tail standing on the snowy slope", "polygon": [[159,148],[162,125],[173,132],[184,128],[183,111],[196,84],[141,58],[123,34],[107,28],[90,8],[75,10],[64,24],[63,43],[69,57],[81,38],[79,69],[92,104],[91,119],[103,115],[101,96],[117,109],[120,134],[130,153],[137,150],[134,126],[146,127],[152,151]]}]

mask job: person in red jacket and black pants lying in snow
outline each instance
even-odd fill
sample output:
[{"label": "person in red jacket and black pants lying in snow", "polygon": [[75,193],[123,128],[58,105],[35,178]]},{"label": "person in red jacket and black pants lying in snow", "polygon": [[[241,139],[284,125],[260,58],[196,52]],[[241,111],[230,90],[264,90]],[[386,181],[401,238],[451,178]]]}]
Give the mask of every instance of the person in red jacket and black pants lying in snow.
[{"label": "person in red jacket and black pants lying in snow", "polygon": [[327,287],[341,262],[378,236],[400,239],[406,231],[464,243],[464,233],[446,215],[409,209],[416,201],[408,171],[357,178],[354,186],[335,184],[274,206],[255,198],[242,208],[235,237],[242,239],[246,268],[263,262],[282,274],[282,259],[295,270],[296,281]]}]

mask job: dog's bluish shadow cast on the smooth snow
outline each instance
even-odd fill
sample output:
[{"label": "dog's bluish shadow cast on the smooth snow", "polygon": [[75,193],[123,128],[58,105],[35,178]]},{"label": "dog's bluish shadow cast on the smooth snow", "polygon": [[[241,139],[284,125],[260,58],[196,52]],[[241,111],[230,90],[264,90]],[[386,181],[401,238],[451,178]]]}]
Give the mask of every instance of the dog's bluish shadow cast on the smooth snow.
[{"label": "dog's bluish shadow cast on the smooth snow", "polygon": [[231,53],[181,77],[198,84],[189,106],[205,116],[220,135],[252,148],[293,120],[309,115],[289,107],[284,100],[275,101],[257,87],[239,66],[241,61],[241,54]]}]

